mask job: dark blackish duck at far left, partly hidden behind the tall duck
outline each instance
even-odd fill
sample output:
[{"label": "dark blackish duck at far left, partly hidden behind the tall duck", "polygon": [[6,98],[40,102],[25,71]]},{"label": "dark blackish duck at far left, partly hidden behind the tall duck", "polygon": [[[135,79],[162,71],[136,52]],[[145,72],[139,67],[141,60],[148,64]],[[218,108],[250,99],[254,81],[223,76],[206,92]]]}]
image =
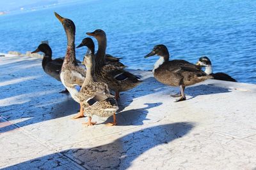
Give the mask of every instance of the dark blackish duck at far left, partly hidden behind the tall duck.
[{"label": "dark blackish duck at far left, partly hidden behind the tall duck", "polygon": [[[64,61],[64,57],[52,60],[52,49],[47,43],[42,43],[38,45],[36,50],[31,53],[38,53],[38,52],[43,52],[45,54],[42,60],[42,67],[44,69],[44,72],[49,76],[55,78],[56,80],[61,81],[60,73],[61,73],[61,67]],[[80,61],[76,60],[76,62],[80,62]],[[68,93],[68,90],[65,89],[60,93]]]}]

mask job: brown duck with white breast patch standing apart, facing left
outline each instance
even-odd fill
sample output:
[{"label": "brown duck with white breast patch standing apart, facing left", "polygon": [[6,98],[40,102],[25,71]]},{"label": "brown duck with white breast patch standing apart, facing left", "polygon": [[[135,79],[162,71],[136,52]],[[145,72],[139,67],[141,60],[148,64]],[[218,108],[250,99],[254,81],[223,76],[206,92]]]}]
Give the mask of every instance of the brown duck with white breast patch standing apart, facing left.
[{"label": "brown duck with white breast patch standing apart, facing left", "polygon": [[212,78],[212,76],[199,69],[198,66],[186,60],[169,60],[170,54],[165,45],[154,46],[153,50],[145,55],[145,58],[154,55],[159,56],[152,70],[156,80],[165,85],[180,87],[180,94],[173,95],[173,97],[180,96],[175,102],[186,100],[184,94],[186,86]]}]

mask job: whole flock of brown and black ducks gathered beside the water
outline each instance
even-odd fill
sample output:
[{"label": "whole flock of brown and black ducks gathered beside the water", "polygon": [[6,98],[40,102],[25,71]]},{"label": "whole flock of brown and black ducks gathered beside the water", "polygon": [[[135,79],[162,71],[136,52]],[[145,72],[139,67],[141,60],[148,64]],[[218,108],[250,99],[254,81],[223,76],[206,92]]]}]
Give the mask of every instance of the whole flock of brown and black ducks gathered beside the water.
[{"label": "whole flock of brown and black ducks gathered beside the water", "polygon": [[[120,98],[119,93],[125,92],[139,85],[142,81],[138,76],[124,70],[126,67],[120,62],[120,58],[106,54],[106,33],[101,29],[87,32],[88,36],[97,39],[98,50],[95,53],[95,45],[92,38],[84,38],[80,45],[75,46],[76,26],[72,20],[63,18],[54,13],[60,20],[67,35],[67,52],[64,58],[52,60],[52,50],[49,45],[42,43],[35,52],[44,52],[42,67],[45,73],[56,80],[61,81],[66,88],[63,92],[69,92],[74,101],[80,104],[79,113],[73,118],[88,116],[85,125],[94,125],[92,116],[111,117],[113,122],[107,125],[116,125],[116,111]],[[79,66],[76,60],[75,48],[86,46],[88,48],[84,55],[84,67]],[[211,61],[208,57],[201,57],[197,64],[191,64],[186,60],[169,60],[170,54],[164,45],[156,45],[153,50],[145,55],[145,58],[158,55],[159,59],[152,70],[156,80],[166,85],[180,87],[180,94],[176,102],[186,100],[184,90],[186,86],[199,83],[209,78],[217,80],[236,81],[225,73],[212,73]],[[202,71],[205,67],[205,71]],[[113,96],[110,90],[115,92]]]}]

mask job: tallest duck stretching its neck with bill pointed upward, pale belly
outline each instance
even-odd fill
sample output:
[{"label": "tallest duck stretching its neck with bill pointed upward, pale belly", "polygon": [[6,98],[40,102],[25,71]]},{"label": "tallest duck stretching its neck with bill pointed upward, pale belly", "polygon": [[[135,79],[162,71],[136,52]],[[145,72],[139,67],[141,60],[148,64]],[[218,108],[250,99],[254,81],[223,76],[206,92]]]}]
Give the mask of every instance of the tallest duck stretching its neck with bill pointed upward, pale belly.
[{"label": "tallest duck stretching its neck with bill pointed upward, pale belly", "polygon": [[[63,85],[68,89],[68,92],[72,96],[72,98],[80,103],[79,100],[79,90],[83,85],[86,71],[83,67],[79,67],[76,64],[76,50],[75,50],[75,34],[76,34],[76,26],[72,20],[68,18],[63,18],[58,13],[54,13],[55,16],[60,20],[65,32],[67,34],[67,52],[65,55],[65,59],[63,65],[61,67],[60,79]],[[81,118],[84,117],[83,107],[80,103],[80,111],[73,118]]]}]

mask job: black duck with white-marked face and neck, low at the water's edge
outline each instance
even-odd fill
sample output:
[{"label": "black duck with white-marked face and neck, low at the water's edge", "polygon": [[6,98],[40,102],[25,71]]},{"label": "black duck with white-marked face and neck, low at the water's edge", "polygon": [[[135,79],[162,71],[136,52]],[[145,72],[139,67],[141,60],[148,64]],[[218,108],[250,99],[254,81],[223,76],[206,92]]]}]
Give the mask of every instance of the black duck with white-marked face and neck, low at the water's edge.
[{"label": "black duck with white-marked face and neck, low at the water's edge", "polygon": [[237,82],[236,79],[232,78],[231,76],[229,76],[226,73],[212,73],[212,62],[211,60],[206,57],[200,57],[198,59],[198,62],[196,63],[197,66],[201,66],[201,67],[205,67],[205,73],[207,75],[211,75],[213,76],[213,79],[215,80],[224,80],[224,81],[233,81],[233,82]]}]

